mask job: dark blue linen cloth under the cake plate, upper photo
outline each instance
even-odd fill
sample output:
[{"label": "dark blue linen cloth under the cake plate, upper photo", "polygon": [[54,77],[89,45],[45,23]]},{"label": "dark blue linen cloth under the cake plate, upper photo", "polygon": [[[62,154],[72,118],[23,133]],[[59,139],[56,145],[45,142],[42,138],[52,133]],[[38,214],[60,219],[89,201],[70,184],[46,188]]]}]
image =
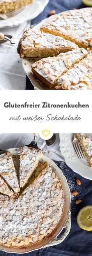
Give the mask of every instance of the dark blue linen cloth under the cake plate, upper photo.
[{"label": "dark blue linen cloth under the cake plate, upper photo", "polygon": [[[73,8],[83,8],[85,7],[82,4],[81,0],[49,0],[48,5],[45,7],[44,11],[38,15],[34,20],[31,22],[31,28],[41,22],[44,18],[48,17],[48,13],[51,10],[55,10],[56,14],[61,13],[62,11],[67,11]],[[53,18],[53,16],[52,16]],[[30,82],[29,78],[26,77],[26,90],[34,90],[34,86]]]}]

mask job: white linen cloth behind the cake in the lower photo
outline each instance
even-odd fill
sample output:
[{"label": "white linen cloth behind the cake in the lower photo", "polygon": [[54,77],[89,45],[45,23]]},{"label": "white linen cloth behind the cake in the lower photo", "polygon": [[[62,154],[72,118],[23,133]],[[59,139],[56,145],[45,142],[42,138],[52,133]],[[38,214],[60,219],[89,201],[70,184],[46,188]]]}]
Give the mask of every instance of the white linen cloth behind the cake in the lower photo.
[{"label": "white linen cloth behind the cake in the lower photo", "polygon": [[[20,148],[23,145],[28,145],[34,139],[33,134],[0,134],[0,149]],[[44,155],[53,160],[64,161],[59,149],[59,134],[56,134],[56,140],[51,146],[46,145],[46,141],[37,136],[37,145],[42,150]]]}]

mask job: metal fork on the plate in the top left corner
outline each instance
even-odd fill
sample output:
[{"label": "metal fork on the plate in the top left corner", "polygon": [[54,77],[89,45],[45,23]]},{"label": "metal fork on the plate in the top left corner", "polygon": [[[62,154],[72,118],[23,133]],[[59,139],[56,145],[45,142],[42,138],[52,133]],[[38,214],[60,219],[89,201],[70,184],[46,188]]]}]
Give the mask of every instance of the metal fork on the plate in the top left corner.
[{"label": "metal fork on the plate in the top left corner", "polygon": [[23,11],[26,7],[22,6],[17,8],[14,11],[10,11],[9,13],[0,13],[0,19],[2,20],[6,20],[7,18],[12,18],[13,16],[17,15],[18,13],[20,13],[21,11]]}]

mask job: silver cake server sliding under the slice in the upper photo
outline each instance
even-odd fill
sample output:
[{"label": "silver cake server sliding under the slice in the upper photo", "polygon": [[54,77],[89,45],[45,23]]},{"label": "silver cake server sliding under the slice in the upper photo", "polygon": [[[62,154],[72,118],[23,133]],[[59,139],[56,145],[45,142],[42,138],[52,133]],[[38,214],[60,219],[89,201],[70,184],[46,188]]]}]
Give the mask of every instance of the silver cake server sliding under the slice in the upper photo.
[{"label": "silver cake server sliding under the slice in the upper photo", "polygon": [[[10,38],[9,38],[10,37]],[[12,39],[12,36],[10,35],[9,37],[7,37],[6,35],[4,35],[3,33],[0,32],[0,44],[3,44],[6,41],[9,41],[17,50],[18,50],[18,44],[19,44],[19,39]],[[19,53],[19,50],[18,50]],[[24,57],[23,59],[41,59],[39,57]]]}]

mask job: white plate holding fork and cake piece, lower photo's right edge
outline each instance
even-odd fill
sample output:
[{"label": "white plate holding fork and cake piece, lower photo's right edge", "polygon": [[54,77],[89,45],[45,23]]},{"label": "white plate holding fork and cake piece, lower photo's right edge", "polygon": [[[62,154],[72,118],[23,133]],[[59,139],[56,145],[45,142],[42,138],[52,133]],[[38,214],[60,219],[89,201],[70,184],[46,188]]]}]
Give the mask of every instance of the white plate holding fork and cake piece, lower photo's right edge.
[{"label": "white plate holding fork and cake piece, lower photo's right edge", "polygon": [[[92,134],[87,134],[92,137]],[[60,137],[60,151],[64,157],[65,163],[74,172],[80,174],[82,177],[92,180],[92,168],[87,164],[87,159],[79,159],[74,151],[72,144],[73,134],[62,133],[59,134]]]}]

